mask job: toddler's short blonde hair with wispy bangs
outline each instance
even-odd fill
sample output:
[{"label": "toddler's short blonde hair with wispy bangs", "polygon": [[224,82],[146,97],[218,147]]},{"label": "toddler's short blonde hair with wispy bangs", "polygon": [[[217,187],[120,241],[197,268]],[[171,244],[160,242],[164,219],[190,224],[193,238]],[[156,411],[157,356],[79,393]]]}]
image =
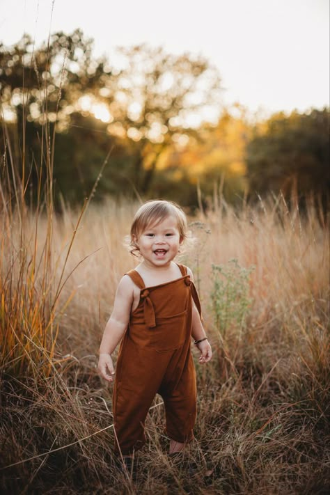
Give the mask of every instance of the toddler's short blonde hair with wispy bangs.
[{"label": "toddler's short blonde hair with wispy bangs", "polygon": [[174,217],[178,222],[180,240],[187,238],[187,218],[182,208],[173,201],[163,199],[151,200],[144,203],[134,215],[131,226],[131,238],[129,242],[129,251],[132,255],[137,256],[139,246],[135,239],[139,237],[143,230],[148,226],[156,226],[167,217]]}]

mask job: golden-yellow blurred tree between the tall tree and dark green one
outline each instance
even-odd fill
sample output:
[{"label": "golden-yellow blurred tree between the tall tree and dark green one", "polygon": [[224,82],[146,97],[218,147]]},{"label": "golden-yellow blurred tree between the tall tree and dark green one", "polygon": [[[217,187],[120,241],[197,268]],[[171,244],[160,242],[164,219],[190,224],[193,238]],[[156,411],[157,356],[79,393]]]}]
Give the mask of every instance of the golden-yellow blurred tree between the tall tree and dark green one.
[{"label": "golden-yellow blurred tree between the tall tree and dark green one", "polygon": [[246,189],[245,148],[251,129],[247,110],[233,104],[221,111],[216,125],[198,129],[198,141],[190,139],[181,150],[169,152],[164,170],[188,181],[195,196],[199,184],[205,204],[215,204],[220,198],[241,203]]}]

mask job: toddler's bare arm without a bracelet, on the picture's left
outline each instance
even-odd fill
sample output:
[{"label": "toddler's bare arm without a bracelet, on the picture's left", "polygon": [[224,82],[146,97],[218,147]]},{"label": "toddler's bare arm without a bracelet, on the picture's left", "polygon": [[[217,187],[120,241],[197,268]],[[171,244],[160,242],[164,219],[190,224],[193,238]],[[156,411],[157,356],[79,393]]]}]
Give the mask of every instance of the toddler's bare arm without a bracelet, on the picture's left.
[{"label": "toddler's bare arm without a bracelet, on the picture's left", "polygon": [[125,275],[118,284],[113,303],[113,311],[104,329],[100,345],[100,358],[97,368],[100,375],[109,382],[112,382],[112,375],[115,374],[111,354],[116,349],[127,329],[133,296],[132,280],[129,276]]}]

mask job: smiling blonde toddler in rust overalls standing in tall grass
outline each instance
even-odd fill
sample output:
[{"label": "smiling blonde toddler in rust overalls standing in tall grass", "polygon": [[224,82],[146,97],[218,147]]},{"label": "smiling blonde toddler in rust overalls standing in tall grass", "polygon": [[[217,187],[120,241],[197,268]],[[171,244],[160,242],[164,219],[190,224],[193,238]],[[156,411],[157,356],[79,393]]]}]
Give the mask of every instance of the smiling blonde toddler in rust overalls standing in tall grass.
[{"label": "smiling blonde toddler in rust overalls standing in tall grass", "polygon": [[[212,357],[191,270],[173,260],[187,237],[187,219],[170,201],[148,201],[136,212],[130,247],[141,262],[120,280],[100,345],[100,375],[113,381],[116,452],[129,458],[145,442],[144,423],[156,393],[166,411],[171,455],[193,439],[196,372],[191,337]],[[111,354],[120,342],[116,375]]]}]

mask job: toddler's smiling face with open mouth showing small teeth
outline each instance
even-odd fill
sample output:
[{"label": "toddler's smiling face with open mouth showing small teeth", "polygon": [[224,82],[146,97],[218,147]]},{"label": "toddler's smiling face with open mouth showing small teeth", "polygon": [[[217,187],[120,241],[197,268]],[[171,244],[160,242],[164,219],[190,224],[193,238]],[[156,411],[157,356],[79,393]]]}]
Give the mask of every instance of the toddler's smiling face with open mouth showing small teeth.
[{"label": "toddler's smiling face with open mouth showing small teeth", "polygon": [[175,217],[168,216],[159,223],[150,224],[139,233],[136,244],[149,267],[167,267],[178,254],[182,243]]}]

